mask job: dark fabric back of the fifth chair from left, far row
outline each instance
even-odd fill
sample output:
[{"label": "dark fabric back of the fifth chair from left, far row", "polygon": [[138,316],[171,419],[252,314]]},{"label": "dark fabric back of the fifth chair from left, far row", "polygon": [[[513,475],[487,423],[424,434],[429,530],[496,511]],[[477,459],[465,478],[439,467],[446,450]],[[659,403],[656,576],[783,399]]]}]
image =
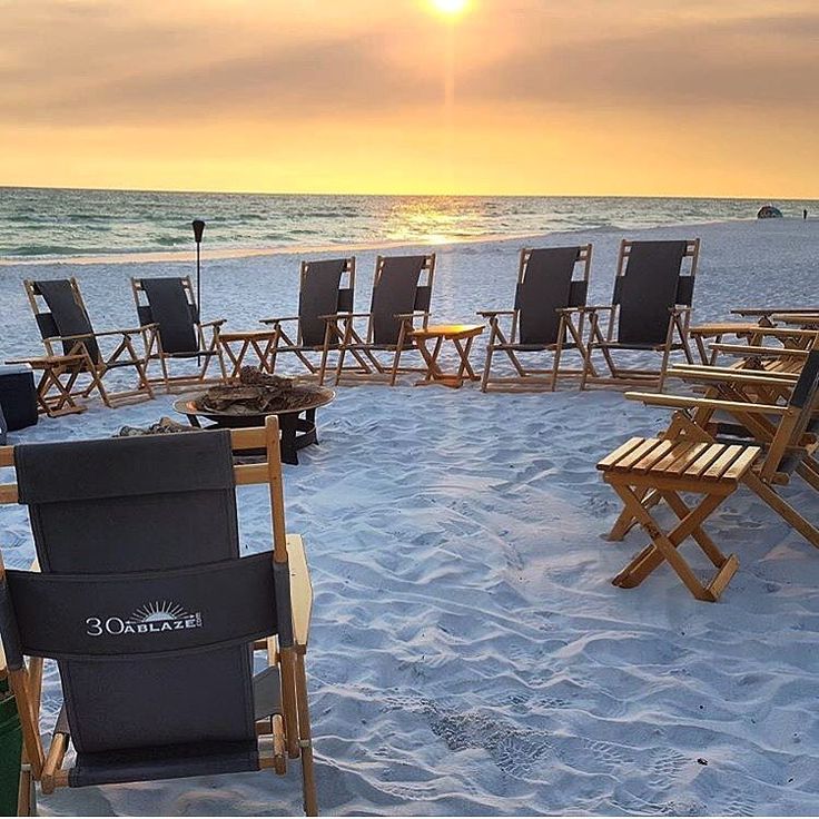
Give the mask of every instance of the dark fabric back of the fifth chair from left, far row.
[{"label": "dark fabric back of the fifth chair from left, far row", "polygon": [[[515,293],[521,344],[556,344],[559,309],[585,305],[592,246],[524,248]],[[582,263],[582,278],[574,280]]]}]

